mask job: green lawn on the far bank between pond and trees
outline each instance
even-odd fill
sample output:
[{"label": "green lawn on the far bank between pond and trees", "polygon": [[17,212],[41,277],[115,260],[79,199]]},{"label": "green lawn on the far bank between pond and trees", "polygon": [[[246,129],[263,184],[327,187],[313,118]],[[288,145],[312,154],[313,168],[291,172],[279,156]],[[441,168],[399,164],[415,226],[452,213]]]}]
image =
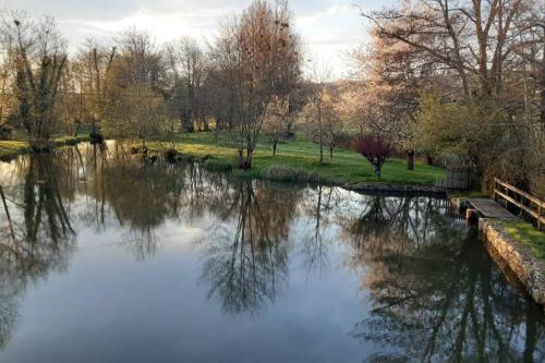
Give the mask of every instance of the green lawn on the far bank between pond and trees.
[{"label": "green lawn on the far bank between pond and trees", "polygon": [[[407,170],[403,159],[389,159],[383,168],[383,178],[378,179],[372,166],[361,155],[347,149],[336,149],[334,158],[324,150],[325,162],[318,162],[318,146],[307,141],[287,142],[278,145],[277,155],[272,156],[271,147],[259,143],[252,161],[252,170],[242,171],[234,168],[235,148],[225,134],[217,137],[214,132],[179,134],[174,145],[178,152],[196,158],[214,158],[214,166],[219,164],[233,167],[233,172],[243,177],[289,180],[291,171],[298,178],[319,179],[336,183],[386,183],[386,184],[435,184],[437,177],[444,177],[445,170],[427,165],[416,164],[415,170]],[[157,152],[168,147],[166,143],[152,143]],[[280,168],[280,167],[281,168]]]}]

